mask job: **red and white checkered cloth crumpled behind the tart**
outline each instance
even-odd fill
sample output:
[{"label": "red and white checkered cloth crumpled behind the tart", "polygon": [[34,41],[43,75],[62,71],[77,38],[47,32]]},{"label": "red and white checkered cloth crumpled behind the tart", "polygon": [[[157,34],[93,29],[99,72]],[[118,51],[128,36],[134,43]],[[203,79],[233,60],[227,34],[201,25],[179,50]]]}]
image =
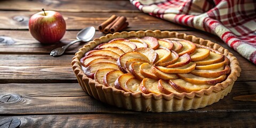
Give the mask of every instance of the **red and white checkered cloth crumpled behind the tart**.
[{"label": "red and white checkered cloth crumpled behind the tart", "polygon": [[255,0],[130,0],[139,10],[218,35],[256,65]]}]

